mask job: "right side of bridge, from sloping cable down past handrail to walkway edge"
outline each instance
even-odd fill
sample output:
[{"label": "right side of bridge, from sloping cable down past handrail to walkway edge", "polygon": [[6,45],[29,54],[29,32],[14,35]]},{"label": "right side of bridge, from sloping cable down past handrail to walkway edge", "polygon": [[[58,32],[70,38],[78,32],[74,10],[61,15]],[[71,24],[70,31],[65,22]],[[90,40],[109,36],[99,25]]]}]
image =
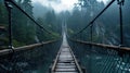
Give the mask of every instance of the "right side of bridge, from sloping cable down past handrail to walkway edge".
[{"label": "right side of bridge, from sloping cable down past handrail to walkway edge", "polygon": [[128,2],[109,1],[86,27],[68,36],[70,47],[88,73],[130,72]]}]

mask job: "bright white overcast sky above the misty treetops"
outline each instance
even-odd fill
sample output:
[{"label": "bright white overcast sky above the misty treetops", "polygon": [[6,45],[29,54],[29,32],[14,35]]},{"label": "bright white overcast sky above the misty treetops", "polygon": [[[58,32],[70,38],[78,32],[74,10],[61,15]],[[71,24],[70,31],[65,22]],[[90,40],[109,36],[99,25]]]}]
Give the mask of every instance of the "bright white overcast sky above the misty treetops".
[{"label": "bright white overcast sky above the misty treetops", "polygon": [[[108,0],[98,0],[99,2],[106,2]],[[74,8],[74,4],[78,2],[78,0],[32,0],[32,2],[39,2],[44,7],[53,8],[56,12],[61,11],[70,11]]]}]

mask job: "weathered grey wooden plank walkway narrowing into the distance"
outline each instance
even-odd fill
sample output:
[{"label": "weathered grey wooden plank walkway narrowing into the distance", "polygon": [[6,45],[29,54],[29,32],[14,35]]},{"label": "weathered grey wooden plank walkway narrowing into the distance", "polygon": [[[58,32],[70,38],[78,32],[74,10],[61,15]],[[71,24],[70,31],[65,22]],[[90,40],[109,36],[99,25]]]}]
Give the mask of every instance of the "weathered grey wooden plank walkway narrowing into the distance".
[{"label": "weathered grey wooden plank walkway narrowing into the distance", "polygon": [[82,73],[70,47],[67,44],[65,34],[51,73]]}]

